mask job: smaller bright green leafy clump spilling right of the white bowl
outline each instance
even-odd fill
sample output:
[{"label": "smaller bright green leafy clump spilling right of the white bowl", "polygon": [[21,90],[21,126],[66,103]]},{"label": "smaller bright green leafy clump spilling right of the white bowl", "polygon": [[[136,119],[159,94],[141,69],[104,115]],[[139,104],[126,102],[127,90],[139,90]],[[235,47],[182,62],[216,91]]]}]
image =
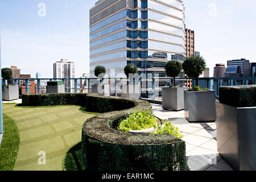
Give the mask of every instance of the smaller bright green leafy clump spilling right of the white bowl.
[{"label": "smaller bright green leafy clump spilling right of the white bowl", "polygon": [[174,137],[177,138],[183,138],[184,136],[182,135],[182,131],[179,131],[177,127],[172,125],[172,123],[168,120],[163,121],[163,125],[158,125],[155,131],[155,135],[160,135],[160,134],[171,134],[174,135]]}]

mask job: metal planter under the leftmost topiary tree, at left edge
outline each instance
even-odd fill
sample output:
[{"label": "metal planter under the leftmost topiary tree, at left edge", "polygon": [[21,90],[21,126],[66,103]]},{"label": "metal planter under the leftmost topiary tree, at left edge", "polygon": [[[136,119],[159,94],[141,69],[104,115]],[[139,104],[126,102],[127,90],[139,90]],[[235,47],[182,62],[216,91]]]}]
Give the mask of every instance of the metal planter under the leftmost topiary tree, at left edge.
[{"label": "metal planter under the leftmost topiary tree, at left edge", "polygon": [[19,86],[2,86],[2,99],[3,101],[13,101],[19,98]]}]

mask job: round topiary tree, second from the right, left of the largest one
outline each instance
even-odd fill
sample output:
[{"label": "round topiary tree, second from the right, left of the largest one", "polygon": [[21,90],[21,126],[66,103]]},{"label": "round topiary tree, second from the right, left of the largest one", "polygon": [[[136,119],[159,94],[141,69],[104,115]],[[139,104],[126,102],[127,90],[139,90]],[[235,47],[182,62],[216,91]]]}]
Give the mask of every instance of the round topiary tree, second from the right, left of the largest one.
[{"label": "round topiary tree, second from the right, left of the largest one", "polygon": [[175,60],[168,61],[165,68],[166,68],[167,76],[174,78],[174,86],[176,86],[175,77],[179,76],[179,74],[182,70],[182,64],[179,61],[175,61]]}]

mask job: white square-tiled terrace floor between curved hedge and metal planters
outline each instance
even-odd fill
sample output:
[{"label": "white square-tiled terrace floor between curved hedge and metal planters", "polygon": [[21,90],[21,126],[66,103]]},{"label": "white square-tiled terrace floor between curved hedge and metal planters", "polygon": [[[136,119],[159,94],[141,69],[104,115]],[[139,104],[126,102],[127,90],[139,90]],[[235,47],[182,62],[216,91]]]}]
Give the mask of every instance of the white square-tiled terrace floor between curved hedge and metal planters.
[{"label": "white square-tiled terrace floor between curved hedge and metal planters", "polygon": [[216,122],[189,123],[184,110],[164,110],[162,105],[151,105],[156,117],[168,119],[183,131],[191,171],[234,171],[217,152]]}]

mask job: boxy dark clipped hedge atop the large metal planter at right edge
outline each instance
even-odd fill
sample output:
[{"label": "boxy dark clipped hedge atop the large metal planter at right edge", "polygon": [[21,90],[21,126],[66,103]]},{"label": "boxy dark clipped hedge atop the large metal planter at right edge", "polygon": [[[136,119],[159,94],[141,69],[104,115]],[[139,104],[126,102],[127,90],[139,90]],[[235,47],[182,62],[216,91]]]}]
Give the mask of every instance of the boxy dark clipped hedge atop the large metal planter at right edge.
[{"label": "boxy dark clipped hedge atop the large metal planter at right edge", "polygon": [[220,102],[234,107],[256,106],[256,85],[221,86]]}]

